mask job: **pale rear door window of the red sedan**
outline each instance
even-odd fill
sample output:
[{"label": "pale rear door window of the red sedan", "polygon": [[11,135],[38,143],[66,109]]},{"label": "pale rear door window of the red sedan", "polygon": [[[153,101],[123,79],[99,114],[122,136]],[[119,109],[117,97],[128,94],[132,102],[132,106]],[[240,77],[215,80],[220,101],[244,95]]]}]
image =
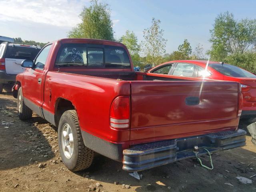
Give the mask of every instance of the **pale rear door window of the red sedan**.
[{"label": "pale rear door window of the red sedan", "polygon": [[183,77],[197,77],[196,66],[189,63],[178,63],[172,75]]}]

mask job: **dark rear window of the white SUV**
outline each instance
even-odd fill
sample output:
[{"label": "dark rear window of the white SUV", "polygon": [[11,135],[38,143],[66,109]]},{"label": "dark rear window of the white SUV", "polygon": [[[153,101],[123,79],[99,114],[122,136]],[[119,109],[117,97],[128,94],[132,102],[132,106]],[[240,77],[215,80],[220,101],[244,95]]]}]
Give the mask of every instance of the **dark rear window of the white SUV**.
[{"label": "dark rear window of the white SUV", "polygon": [[6,58],[9,59],[29,59],[34,60],[41,49],[26,46],[12,46],[9,45],[6,51]]}]

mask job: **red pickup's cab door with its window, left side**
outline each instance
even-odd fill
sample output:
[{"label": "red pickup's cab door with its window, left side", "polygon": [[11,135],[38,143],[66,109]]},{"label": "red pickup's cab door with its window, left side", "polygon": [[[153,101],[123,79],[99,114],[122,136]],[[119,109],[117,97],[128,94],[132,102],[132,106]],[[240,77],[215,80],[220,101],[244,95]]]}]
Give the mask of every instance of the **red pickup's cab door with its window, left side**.
[{"label": "red pickup's cab door with its window, left side", "polygon": [[48,54],[52,44],[45,46],[36,59],[33,68],[27,69],[23,76],[22,94],[24,102],[31,110],[42,116],[40,106],[42,102],[43,76],[46,71],[45,64],[48,62]]}]

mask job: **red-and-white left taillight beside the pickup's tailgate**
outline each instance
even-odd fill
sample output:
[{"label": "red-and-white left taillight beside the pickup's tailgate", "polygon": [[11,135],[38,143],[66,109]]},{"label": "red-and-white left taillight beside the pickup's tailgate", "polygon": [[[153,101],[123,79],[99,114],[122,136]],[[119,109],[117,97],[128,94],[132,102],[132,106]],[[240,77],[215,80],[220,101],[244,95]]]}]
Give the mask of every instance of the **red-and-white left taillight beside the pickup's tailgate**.
[{"label": "red-and-white left taillight beside the pickup's tailgate", "polygon": [[130,98],[116,98],[110,108],[110,126],[115,129],[129,128]]}]

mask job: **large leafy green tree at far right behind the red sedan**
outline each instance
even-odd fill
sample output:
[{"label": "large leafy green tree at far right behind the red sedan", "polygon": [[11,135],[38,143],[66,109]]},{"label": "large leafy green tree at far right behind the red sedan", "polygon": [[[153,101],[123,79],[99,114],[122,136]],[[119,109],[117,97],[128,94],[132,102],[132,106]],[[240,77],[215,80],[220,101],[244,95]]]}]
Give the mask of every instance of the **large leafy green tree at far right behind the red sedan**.
[{"label": "large leafy green tree at far right behind the red sedan", "polygon": [[234,53],[243,54],[253,50],[256,44],[256,20],[237,21],[234,15],[225,12],[219,14],[210,30],[212,48],[207,52],[215,60],[224,60]]}]

